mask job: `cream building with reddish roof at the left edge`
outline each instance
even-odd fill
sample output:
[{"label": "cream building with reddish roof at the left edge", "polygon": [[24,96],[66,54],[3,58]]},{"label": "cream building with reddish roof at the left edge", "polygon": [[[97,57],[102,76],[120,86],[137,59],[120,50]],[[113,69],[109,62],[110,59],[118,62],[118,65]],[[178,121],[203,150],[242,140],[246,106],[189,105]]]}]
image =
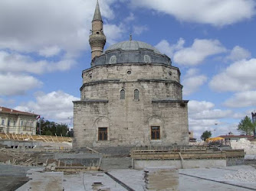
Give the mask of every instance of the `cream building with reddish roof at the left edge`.
[{"label": "cream building with reddish roof at the left edge", "polygon": [[37,116],[0,106],[0,132],[13,134],[36,134]]}]

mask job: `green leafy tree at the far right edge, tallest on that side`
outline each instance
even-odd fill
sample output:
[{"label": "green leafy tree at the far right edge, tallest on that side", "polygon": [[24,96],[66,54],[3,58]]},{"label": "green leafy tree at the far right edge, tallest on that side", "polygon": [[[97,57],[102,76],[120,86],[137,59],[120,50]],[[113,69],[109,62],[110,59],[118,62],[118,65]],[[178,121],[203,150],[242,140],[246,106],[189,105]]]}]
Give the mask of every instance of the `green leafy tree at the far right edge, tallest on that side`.
[{"label": "green leafy tree at the far right edge, tallest on that side", "polygon": [[238,125],[238,131],[241,131],[242,133],[246,135],[255,134],[255,127],[256,123],[251,121],[251,118],[249,118],[247,115],[245,118],[241,119]]}]

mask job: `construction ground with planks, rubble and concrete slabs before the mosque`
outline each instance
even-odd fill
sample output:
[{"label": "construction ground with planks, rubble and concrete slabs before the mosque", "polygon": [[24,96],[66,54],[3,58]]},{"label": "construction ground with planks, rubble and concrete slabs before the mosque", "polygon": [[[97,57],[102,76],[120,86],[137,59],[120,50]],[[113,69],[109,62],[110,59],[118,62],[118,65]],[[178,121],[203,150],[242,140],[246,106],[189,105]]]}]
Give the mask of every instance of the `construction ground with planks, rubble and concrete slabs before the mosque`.
[{"label": "construction ground with planks, rubble and concrete slabs before the mosque", "polygon": [[0,134],[2,190],[256,190],[256,144],[72,150],[72,138]]}]

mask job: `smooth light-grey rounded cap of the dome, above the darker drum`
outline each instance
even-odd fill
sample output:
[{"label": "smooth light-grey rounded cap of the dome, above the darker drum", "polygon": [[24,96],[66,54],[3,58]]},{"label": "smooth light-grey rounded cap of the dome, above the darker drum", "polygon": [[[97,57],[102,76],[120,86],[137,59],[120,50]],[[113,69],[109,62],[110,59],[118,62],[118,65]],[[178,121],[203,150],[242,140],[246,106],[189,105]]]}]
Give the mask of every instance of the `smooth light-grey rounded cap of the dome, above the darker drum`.
[{"label": "smooth light-grey rounded cap of the dome, above the darker drum", "polygon": [[160,53],[159,50],[156,49],[156,47],[151,46],[150,44],[146,44],[141,41],[136,40],[128,40],[123,41],[117,44],[113,44],[112,46],[108,47],[105,52],[109,50],[139,50],[139,49],[147,49],[147,50],[153,50],[154,53]]}]

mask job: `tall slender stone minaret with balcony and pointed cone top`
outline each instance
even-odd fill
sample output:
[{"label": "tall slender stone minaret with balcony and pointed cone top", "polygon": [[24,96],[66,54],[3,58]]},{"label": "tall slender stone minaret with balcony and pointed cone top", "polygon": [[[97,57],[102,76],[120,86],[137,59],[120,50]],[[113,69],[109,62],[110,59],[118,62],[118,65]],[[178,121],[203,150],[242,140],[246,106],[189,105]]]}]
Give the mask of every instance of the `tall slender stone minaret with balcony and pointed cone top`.
[{"label": "tall slender stone minaret with balcony and pointed cone top", "polygon": [[100,6],[97,5],[94,12],[94,19],[92,21],[92,34],[90,34],[91,60],[103,53],[103,48],[106,44],[106,36],[103,33],[103,21],[100,15]]}]

